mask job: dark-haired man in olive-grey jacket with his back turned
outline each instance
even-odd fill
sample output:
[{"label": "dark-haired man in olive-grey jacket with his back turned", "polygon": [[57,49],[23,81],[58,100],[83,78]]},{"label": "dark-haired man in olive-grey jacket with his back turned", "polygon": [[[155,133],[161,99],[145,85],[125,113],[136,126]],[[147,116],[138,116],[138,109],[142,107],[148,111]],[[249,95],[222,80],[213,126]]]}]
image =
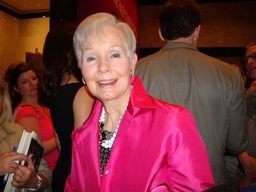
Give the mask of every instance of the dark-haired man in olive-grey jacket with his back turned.
[{"label": "dark-haired man in olive-grey jacket with his back turned", "polygon": [[[211,160],[216,184],[223,184],[223,154],[241,154],[248,145],[243,80],[236,68],[196,49],[201,12],[190,0],[171,0],[159,15],[164,47],[138,61],[150,95],[193,113]],[[182,162],[181,162],[182,163]]]}]

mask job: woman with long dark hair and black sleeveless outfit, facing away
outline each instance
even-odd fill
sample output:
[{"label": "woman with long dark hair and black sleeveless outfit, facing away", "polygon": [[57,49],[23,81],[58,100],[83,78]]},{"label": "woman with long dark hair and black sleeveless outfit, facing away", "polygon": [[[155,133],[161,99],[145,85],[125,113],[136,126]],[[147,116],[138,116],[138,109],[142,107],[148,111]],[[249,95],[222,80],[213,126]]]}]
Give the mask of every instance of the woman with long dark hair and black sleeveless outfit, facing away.
[{"label": "woman with long dark hair and black sleeveless outfit, facing away", "polygon": [[63,191],[71,167],[71,134],[90,115],[93,99],[82,81],[73,52],[72,23],[56,24],[47,34],[44,52],[44,97],[60,140],[60,157],[52,174],[53,191]]}]

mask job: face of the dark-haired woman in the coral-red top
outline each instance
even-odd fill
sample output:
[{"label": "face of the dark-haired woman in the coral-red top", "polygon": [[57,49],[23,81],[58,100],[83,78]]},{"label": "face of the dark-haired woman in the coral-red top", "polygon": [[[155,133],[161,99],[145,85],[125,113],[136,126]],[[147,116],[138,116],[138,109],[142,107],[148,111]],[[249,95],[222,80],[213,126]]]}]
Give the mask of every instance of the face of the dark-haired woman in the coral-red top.
[{"label": "face of the dark-haired woman in the coral-red top", "polygon": [[28,70],[20,74],[17,87],[15,90],[20,93],[21,97],[37,97],[38,95],[38,78],[33,70]]}]

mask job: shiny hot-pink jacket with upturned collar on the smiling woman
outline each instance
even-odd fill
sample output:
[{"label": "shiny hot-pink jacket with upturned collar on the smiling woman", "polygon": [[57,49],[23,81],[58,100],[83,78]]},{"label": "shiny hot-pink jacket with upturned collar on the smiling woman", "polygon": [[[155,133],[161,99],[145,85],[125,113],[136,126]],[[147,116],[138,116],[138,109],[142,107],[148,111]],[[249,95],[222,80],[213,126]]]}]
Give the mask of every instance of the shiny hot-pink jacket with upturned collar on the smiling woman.
[{"label": "shiny hot-pink jacket with upturned collar on the smiling woman", "polygon": [[187,109],[147,95],[138,77],[100,179],[102,103],[72,134],[65,191],[202,191],[214,186],[209,158]]}]

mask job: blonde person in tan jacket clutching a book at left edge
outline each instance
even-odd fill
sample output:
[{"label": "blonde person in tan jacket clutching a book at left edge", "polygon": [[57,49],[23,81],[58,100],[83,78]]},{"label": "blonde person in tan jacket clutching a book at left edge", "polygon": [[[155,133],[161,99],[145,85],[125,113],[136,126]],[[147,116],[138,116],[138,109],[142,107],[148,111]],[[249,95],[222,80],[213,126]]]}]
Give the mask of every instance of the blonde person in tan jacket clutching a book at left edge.
[{"label": "blonde person in tan jacket clutching a book at left edge", "polygon": [[[19,145],[24,128],[12,122],[12,108],[8,90],[0,79],[0,175],[14,173],[12,185],[16,188],[30,188],[33,191],[51,191],[51,171],[47,163],[42,159],[38,172],[35,172],[31,155],[24,156],[17,152],[11,152],[13,147]],[[14,160],[28,161],[28,166],[19,165]],[[0,191],[3,191],[2,178],[0,179]]]}]

